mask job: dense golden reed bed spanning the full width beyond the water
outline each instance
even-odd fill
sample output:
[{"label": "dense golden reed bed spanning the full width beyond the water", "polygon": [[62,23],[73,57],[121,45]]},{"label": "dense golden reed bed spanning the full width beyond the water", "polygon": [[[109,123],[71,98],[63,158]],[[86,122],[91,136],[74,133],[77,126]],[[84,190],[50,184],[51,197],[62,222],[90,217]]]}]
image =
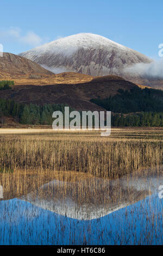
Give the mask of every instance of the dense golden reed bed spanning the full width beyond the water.
[{"label": "dense golden reed bed spanning the full width beyond the water", "polygon": [[[142,139],[143,138],[143,139]],[[42,132],[2,135],[1,166],[6,169],[74,171],[114,179],[163,162],[163,132]]]}]

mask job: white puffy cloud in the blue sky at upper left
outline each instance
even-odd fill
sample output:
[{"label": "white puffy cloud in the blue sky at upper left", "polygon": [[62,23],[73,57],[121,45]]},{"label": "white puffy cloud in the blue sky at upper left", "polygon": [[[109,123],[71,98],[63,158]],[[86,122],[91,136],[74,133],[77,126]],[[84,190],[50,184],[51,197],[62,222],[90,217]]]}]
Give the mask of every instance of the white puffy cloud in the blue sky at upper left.
[{"label": "white puffy cloud in the blue sky at upper left", "polygon": [[18,27],[10,27],[8,30],[0,29],[1,40],[13,40],[30,46],[39,46],[43,43],[43,39],[33,31],[28,31],[22,35],[22,30]]}]

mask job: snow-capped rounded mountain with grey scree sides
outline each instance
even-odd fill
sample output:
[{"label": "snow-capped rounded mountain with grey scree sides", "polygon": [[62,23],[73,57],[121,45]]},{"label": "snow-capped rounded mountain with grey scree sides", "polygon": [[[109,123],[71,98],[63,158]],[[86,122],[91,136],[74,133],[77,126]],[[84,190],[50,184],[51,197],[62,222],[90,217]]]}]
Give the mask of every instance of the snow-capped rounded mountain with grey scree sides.
[{"label": "snow-capped rounded mountain with grey scree sides", "polygon": [[[151,63],[147,56],[101,35],[80,33],[20,53],[54,73],[74,71],[92,76],[119,75],[136,63]],[[128,77],[127,77],[128,78]]]}]

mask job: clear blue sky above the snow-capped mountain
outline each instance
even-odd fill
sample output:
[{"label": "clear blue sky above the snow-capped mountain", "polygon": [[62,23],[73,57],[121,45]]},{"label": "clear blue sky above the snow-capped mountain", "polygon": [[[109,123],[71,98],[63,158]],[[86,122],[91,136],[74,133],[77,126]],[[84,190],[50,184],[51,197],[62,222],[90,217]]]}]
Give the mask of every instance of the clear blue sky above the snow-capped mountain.
[{"label": "clear blue sky above the snow-capped mountain", "polygon": [[1,0],[0,44],[20,53],[63,36],[89,32],[158,58],[162,0]]}]

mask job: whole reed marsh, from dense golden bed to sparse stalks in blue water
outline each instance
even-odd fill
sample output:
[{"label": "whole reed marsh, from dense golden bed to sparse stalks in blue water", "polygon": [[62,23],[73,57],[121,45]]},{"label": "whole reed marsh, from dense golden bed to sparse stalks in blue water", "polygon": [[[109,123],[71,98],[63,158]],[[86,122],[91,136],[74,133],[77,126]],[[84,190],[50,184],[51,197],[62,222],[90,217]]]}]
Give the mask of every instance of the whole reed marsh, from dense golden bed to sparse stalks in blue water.
[{"label": "whole reed marsh, from dense golden bed to sparse stalks in blue water", "polygon": [[[162,201],[159,208],[155,197],[143,201],[150,191],[127,184],[128,180],[146,182],[152,176],[159,180],[162,169],[153,167],[163,161],[163,131],[115,129],[106,138],[92,131],[12,131],[1,133],[0,143],[4,196],[0,244],[162,243]],[[9,169],[13,171],[4,171]],[[119,182],[124,177],[126,187]],[[51,183],[54,180],[55,185]],[[29,202],[28,197],[33,205],[35,199],[50,205],[62,202],[63,212],[65,198],[71,199],[80,213],[85,209],[90,215],[93,209],[102,211],[102,216],[108,209],[116,212],[84,222],[74,216],[66,218],[66,211],[62,218],[42,210],[40,219],[36,206],[24,205],[22,200]],[[21,200],[15,205],[15,201],[5,201],[12,198]],[[138,201],[139,207],[131,205],[118,214],[119,206]]]}]

